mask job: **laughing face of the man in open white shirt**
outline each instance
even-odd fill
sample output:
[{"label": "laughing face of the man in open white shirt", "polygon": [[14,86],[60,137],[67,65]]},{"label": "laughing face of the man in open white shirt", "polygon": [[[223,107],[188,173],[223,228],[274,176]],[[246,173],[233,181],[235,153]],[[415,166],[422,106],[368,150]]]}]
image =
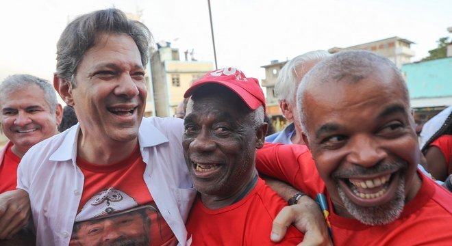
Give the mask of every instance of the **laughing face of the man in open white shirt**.
[{"label": "laughing face of the man in open white shirt", "polygon": [[147,90],[140,52],[130,36],[98,34],[77,66],[75,83],[62,97],[74,106],[80,142],[108,146],[136,139]]}]

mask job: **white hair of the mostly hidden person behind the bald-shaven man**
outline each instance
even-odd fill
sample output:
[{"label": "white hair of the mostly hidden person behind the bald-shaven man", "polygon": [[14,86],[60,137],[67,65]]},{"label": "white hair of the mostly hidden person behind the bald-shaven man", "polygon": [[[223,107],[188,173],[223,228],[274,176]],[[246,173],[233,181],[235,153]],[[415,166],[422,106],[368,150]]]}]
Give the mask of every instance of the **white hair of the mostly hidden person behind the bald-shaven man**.
[{"label": "white hair of the mostly hidden person behind the bald-shaven man", "polygon": [[318,62],[328,57],[327,51],[310,51],[303,55],[298,55],[281,68],[277,81],[275,83],[275,96],[279,101],[286,100],[289,104],[295,104],[295,96],[297,96],[297,87],[303,79],[307,68],[307,62]]}]

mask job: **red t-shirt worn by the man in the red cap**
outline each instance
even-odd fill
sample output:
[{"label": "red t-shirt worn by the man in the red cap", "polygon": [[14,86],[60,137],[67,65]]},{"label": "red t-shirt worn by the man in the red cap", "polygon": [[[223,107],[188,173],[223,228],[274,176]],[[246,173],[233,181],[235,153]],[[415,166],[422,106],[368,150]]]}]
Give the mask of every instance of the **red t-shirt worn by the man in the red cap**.
[{"label": "red t-shirt worn by the man in the red cap", "polygon": [[253,190],[242,200],[219,209],[195,200],[186,227],[192,245],[297,245],[303,233],[293,226],[287,230],[284,241],[270,241],[273,219],[287,203],[264,180],[258,180]]}]

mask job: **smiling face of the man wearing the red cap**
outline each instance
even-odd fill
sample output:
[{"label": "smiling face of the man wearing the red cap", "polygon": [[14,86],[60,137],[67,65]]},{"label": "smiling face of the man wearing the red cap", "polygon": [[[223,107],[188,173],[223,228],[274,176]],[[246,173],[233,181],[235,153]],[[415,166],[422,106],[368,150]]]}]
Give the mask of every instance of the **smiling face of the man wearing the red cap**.
[{"label": "smiling face of the man wearing the red cap", "polygon": [[182,145],[202,195],[231,197],[253,178],[255,149],[262,147],[266,128],[256,130],[249,111],[235,94],[189,102]]}]

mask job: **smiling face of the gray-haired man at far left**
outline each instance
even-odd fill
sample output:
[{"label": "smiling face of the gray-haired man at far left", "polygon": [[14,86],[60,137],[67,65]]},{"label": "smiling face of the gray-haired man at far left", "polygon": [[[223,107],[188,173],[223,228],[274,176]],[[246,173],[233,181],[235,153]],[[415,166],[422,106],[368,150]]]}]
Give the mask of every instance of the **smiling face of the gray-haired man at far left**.
[{"label": "smiling face of the gray-haired man at far left", "polygon": [[57,133],[61,105],[51,110],[38,85],[2,95],[0,100],[2,131],[14,143],[12,151],[17,156],[22,157],[36,143]]}]

